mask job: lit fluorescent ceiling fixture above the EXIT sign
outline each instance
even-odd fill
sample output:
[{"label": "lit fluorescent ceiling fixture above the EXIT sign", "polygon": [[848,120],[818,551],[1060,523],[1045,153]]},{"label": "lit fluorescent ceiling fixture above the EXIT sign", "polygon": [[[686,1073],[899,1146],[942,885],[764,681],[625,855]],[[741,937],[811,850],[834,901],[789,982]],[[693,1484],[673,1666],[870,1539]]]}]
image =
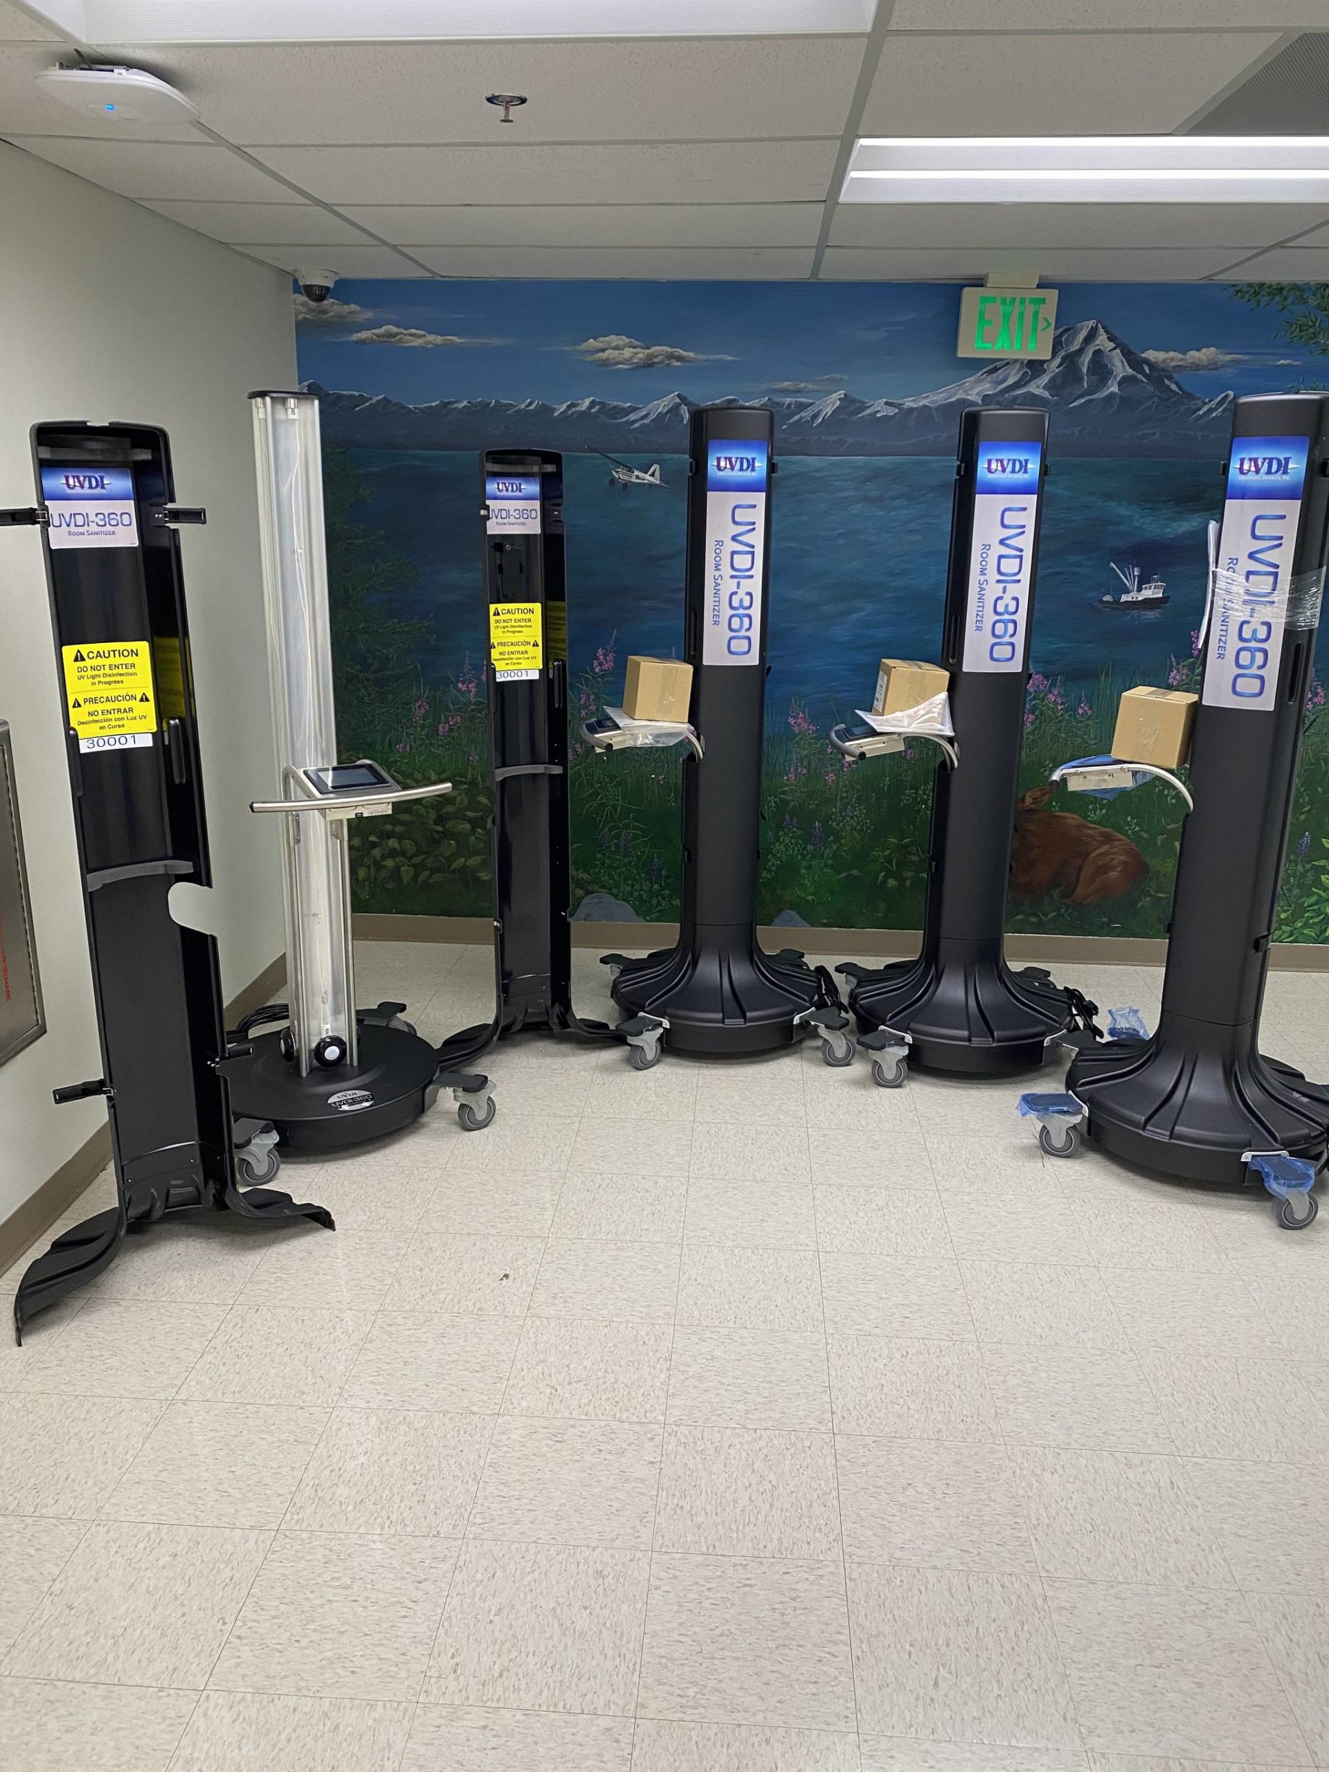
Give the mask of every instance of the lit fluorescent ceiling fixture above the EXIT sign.
[{"label": "lit fluorescent ceiling fixture above the EXIT sign", "polygon": [[845,204],[1317,204],[1329,136],[863,138]]}]

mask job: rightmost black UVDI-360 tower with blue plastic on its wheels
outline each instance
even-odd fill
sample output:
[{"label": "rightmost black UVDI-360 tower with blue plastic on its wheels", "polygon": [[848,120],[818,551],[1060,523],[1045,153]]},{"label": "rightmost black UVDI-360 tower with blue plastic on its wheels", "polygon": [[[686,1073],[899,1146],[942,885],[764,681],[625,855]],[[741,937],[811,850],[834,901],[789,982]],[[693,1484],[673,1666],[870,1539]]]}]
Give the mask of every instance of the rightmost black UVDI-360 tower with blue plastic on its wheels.
[{"label": "rightmost black UVDI-360 tower with blue plastic on its wheels", "polygon": [[1258,1047],[1329,533],[1329,397],[1237,400],[1177,861],[1162,1017],[1081,1053],[1090,1141],[1182,1180],[1246,1185],[1249,1155],[1315,1162],[1329,1092]]}]

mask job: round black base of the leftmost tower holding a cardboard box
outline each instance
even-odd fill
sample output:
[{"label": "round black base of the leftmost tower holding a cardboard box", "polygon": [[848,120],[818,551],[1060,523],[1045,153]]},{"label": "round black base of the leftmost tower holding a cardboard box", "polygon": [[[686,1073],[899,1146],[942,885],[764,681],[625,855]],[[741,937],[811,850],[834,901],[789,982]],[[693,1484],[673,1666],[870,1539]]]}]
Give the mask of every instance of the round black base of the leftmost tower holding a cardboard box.
[{"label": "round black base of the leftmost tower holding a cardboard box", "polygon": [[613,1001],[629,1017],[666,1021],[672,1053],[737,1058],[792,1045],[804,1031],[797,1017],[817,1006],[817,975],[803,959],[764,953],[744,937],[742,946],[663,948],[627,960]]}]

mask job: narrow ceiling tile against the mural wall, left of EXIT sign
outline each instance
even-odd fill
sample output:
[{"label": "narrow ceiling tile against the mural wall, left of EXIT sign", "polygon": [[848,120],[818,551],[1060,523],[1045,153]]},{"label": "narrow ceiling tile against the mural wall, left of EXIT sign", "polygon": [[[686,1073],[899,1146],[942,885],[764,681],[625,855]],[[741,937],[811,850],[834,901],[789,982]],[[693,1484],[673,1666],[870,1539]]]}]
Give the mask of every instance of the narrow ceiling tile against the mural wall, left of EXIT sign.
[{"label": "narrow ceiling tile against the mural wall, left of EXIT sign", "polygon": [[812,246],[422,246],[443,276],[790,278],[812,271]]}]

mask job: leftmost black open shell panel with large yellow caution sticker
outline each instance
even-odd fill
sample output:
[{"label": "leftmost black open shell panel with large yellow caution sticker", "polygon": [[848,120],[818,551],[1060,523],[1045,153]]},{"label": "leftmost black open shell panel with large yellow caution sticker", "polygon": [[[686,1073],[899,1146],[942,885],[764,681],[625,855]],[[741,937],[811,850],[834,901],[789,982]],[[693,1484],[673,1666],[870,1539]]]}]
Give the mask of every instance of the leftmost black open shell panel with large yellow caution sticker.
[{"label": "leftmost black open shell panel with large yellow caution sticker", "polygon": [[[69,746],[101,1077],[117,1203],[64,1232],[18,1286],[14,1325],[85,1285],[126,1230],[213,1207],[315,1219],[266,1187],[241,1193],[216,941],[175,921],[177,882],[211,886],[177,510],[165,431],[48,424],[32,432]],[[257,1125],[255,1125],[257,1131]]]}]

